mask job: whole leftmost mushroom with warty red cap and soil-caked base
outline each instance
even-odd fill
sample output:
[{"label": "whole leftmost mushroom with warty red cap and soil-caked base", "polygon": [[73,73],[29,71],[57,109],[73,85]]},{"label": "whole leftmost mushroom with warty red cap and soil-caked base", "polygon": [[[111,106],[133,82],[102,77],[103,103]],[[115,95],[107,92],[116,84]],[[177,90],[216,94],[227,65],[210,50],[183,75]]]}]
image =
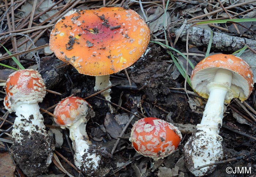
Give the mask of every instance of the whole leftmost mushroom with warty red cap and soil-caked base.
[{"label": "whole leftmost mushroom with warty red cap and soil-caked base", "polygon": [[52,162],[53,140],[46,131],[38,106],[45,97],[45,89],[41,75],[32,69],[18,70],[6,81],[4,106],[17,115],[11,149],[27,176],[46,172]]}]

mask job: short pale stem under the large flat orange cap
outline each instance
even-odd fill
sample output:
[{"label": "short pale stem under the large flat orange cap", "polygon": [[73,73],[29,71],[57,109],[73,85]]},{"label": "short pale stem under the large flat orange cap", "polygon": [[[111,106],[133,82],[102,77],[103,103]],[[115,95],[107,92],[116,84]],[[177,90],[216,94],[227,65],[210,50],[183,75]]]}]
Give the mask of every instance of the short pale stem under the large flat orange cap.
[{"label": "short pale stem under the large flat orange cap", "polygon": [[[100,91],[102,89],[109,87],[110,85],[111,85],[111,82],[109,81],[109,75],[95,77],[95,86],[94,86],[95,91]],[[111,100],[111,97],[109,95],[110,91],[111,89],[108,89],[101,93],[101,95],[104,96],[105,99],[108,101]]]}]

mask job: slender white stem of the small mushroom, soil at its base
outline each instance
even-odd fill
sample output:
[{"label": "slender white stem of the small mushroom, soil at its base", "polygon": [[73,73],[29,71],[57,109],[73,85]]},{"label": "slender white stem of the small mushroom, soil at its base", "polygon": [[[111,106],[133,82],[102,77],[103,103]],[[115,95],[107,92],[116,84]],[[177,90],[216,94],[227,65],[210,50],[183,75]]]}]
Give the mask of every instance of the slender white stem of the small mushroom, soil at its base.
[{"label": "slender white stem of the small mushroom, soil at its base", "polygon": [[94,153],[91,148],[91,141],[86,133],[86,124],[84,119],[79,119],[69,129],[69,138],[72,140],[75,151],[75,165],[83,170],[87,175],[98,171],[101,157]]}]

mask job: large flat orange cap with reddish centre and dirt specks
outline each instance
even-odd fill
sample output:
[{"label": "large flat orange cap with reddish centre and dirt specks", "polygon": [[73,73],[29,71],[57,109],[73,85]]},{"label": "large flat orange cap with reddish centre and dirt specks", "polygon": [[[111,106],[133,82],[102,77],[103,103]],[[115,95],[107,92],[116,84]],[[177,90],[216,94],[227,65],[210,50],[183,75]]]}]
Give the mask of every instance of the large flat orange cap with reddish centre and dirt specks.
[{"label": "large flat orange cap with reddish centre and dirt specks", "polygon": [[133,10],[70,11],[50,34],[50,49],[79,73],[102,76],[131,66],[147,48],[150,30]]}]

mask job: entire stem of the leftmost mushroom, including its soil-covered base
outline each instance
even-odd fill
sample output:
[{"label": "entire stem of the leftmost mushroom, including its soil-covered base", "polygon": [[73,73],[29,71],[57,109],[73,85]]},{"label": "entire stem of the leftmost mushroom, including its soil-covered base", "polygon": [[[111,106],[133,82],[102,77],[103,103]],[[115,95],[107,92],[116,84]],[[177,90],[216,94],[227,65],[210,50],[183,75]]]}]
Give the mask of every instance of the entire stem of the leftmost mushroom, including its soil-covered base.
[{"label": "entire stem of the leftmost mushroom, including its soil-covered base", "polygon": [[[13,109],[17,115],[12,129],[11,148],[14,157],[27,176],[36,176],[46,171],[52,162],[52,139],[46,131],[38,103],[27,104],[18,101]],[[29,152],[27,153],[29,156],[24,158],[26,151]]]}]

